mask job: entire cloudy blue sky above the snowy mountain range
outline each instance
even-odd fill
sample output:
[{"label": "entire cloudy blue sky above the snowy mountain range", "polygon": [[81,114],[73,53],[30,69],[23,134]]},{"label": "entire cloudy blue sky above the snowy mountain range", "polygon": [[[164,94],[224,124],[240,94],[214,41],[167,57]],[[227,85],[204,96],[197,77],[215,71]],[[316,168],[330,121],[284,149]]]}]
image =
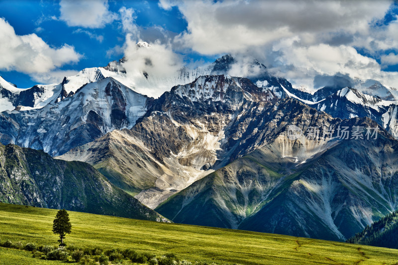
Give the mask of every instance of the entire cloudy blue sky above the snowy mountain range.
[{"label": "entire cloudy blue sky above the snowy mountain range", "polygon": [[159,69],[231,53],[232,75],[257,58],[297,87],[336,74],[398,87],[397,15],[392,1],[2,0],[0,75],[19,88],[57,83],[147,41],[173,61]]}]

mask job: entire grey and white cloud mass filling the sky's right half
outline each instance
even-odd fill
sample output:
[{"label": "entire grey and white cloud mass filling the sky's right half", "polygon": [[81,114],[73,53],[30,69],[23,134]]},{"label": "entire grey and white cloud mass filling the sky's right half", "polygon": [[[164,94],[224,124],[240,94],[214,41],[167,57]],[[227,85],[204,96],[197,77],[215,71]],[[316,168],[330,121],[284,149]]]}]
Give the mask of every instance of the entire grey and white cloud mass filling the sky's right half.
[{"label": "entire grey and white cloud mass filling the sky's right half", "polygon": [[[255,74],[245,61],[256,58],[296,87],[313,88],[316,76],[336,74],[398,87],[398,73],[382,70],[398,61],[398,20],[381,22],[392,1],[160,0],[159,6],[177,6],[187,20],[174,47],[232,53],[237,60],[231,75]],[[389,50],[396,52],[383,55]]]}]

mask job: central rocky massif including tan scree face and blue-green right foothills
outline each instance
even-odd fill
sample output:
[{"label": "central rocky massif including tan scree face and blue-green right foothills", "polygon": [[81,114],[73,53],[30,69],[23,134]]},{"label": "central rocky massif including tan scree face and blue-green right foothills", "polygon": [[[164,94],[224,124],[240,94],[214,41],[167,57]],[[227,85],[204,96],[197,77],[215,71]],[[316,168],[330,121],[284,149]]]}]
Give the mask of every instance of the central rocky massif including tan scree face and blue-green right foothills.
[{"label": "central rocky massif including tan scree face and blue-green right foothills", "polygon": [[[293,125],[320,132],[290,139]],[[397,164],[384,167],[398,142],[382,128],[371,143],[323,135],[338,126],[377,124],[333,118],[248,79],[205,76],[155,99],[131,129],[60,158],[93,164],[176,222],[344,240],[397,208],[397,187],[383,183],[396,183]]]}]

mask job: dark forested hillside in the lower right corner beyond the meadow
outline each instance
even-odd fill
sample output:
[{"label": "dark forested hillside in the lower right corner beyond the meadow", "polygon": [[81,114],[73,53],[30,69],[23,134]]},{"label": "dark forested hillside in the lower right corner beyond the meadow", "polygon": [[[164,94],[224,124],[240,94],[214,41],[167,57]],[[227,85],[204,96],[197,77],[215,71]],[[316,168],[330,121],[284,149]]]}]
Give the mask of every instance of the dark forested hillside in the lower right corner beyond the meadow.
[{"label": "dark forested hillside in the lower right corner beyond the meadow", "polygon": [[398,211],[395,211],[379,221],[366,226],[362,232],[355,234],[346,242],[398,249]]}]

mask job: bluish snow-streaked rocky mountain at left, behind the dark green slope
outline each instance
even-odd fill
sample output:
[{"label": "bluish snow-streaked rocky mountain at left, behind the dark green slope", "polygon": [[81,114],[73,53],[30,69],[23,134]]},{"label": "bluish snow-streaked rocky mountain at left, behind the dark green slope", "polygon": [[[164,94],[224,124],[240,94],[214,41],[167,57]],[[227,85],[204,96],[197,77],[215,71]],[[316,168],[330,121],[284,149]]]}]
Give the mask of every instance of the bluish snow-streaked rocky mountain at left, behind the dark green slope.
[{"label": "bluish snow-streaked rocky mountain at left, behind the dark green slope", "polygon": [[54,97],[40,109],[1,112],[1,143],[56,156],[114,129],[131,128],[153,100],[112,78],[75,91],[61,101]]}]

